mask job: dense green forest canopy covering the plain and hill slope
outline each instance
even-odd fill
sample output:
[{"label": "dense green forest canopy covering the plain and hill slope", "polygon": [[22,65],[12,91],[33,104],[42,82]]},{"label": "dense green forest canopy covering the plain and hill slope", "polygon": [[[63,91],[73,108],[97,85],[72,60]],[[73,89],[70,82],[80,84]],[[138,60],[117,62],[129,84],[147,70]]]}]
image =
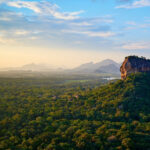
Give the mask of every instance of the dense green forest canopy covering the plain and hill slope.
[{"label": "dense green forest canopy covering the plain and hill slope", "polygon": [[1,78],[0,149],[150,149],[150,75],[96,83]]}]

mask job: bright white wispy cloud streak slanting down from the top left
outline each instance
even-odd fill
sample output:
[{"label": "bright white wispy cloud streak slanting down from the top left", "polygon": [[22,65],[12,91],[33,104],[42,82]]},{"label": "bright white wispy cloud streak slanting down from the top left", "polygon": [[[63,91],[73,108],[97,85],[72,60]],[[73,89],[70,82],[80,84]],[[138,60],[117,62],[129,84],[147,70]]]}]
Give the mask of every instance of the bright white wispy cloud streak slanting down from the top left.
[{"label": "bright white wispy cloud streak slanting down from the top left", "polygon": [[40,15],[50,15],[56,19],[73,20],[78,19],[83,10],[77,12],[60,12],[56,4],[47,1],[9,1],[8,6],[16,8],[27,8]]}]

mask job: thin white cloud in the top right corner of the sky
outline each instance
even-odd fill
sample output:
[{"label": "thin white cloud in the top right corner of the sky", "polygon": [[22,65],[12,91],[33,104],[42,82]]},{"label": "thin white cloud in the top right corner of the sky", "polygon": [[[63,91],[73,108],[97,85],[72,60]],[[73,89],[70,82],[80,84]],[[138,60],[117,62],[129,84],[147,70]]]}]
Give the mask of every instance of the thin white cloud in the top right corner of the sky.
[{"label": "thin white cloud in the top right corner of the sky", "polygon": [[116,8],[134,9],[141,7],[150,7],[150,0],[138,0],[129,4],[117,6]]}]

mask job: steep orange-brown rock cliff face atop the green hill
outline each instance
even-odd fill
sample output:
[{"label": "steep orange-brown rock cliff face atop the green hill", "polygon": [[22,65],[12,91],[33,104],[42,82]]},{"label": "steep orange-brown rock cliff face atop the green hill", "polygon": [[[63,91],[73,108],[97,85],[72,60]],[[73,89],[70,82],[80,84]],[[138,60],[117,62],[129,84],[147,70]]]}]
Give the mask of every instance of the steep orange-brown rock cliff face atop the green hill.
[{"label": "steep orange-brown rock cliff face atop the green hill", "polygon": [[150,60],[144,57],[128,56],[120,67],[121,79],[125,79],[131,73],[150,72]]}]

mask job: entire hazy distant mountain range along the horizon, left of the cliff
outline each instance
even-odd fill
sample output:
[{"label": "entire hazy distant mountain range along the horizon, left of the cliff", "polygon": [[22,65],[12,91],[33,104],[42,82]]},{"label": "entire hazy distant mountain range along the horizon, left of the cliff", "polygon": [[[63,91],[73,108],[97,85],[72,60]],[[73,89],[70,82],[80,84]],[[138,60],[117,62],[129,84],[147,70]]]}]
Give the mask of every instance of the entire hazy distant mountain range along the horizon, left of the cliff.
[{"label": "entire hazy distant mountain range along the horizon, left of the cliff", "polygon": [[47,71],[47,72],[75,72],[75,73],[109,73],[109,74],[120,74],[120,64],[117,62],[106,59],[98,63],[85,63],[74,69],[65,70],[45,64],[26,64],[22,67],[3,68],[0,71]]}]

